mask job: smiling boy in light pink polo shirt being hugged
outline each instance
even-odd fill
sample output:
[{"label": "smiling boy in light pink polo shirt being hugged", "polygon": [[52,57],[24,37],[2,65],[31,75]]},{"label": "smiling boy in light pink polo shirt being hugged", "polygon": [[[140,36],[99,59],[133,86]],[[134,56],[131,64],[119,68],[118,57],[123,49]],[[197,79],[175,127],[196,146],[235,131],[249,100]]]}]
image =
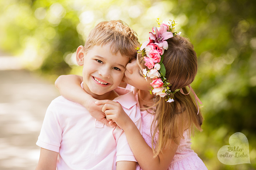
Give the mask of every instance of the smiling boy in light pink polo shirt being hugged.
[{"label": "smiling boy in light pink polo shirt being hugged", "polygon": [[[98,100],[119,102],[141,129],[133,92],[118,87],[138,45],[133,30],[122,21],[101,22],[91,30],[85,46],[76,50],[76,61],[83,66],[82,88]],[[55,170],[56,164],[59,170],[135,169],[123,130],[104,126],[83,106],[62,96],[49,105],[37,145],[41,147],[37,170]]]}]

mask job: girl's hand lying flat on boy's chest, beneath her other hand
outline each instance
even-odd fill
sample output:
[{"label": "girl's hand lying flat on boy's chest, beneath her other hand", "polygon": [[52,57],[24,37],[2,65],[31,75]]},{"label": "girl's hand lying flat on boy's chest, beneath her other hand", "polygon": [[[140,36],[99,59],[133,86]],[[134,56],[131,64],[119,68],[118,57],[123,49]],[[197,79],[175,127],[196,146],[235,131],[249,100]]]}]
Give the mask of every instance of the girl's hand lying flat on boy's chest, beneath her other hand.
[{"label": "girl's hand lying flat on boy's chest, beneath her other hand", "polygon": [[106,124],[110,127],[115,127],[116,123],[114,123],[112,120],[107,120],[105,113],[102,112],[102,107],[104,104],[95,104],[95,102],[98,101],[95,98],[91,98],[89,101],[83,103],[83,106],[87,108],[87,110],[90,112],[91,116],[94,117],[96,120]]}]

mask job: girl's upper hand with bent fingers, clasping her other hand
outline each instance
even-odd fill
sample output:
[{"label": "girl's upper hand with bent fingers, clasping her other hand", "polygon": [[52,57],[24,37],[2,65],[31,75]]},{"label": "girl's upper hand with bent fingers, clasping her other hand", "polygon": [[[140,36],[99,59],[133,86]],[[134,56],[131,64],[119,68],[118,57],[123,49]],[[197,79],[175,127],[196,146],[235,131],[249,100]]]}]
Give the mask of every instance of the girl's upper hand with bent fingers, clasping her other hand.
[{"label": "girl's upper hand with bent fingers, clasping her other hand", "polygon": [[132,121],[118,102],[112,100],[98,100],[95,104],[103,105],[102,112],[106,114],[107,120],[112,120],[121,129],[126,129],[129,125],[129,121]]}]

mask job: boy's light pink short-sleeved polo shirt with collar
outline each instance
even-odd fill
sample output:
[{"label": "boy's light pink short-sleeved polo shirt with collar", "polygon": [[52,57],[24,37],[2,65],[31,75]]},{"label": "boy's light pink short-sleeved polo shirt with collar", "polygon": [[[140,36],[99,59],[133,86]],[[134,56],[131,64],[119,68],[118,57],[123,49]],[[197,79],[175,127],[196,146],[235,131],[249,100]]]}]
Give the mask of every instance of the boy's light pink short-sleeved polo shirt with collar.
[{"label": "boy's light pink short-sleeved polo shirt with collar", "polygon": [[[141,115],[133,91],[118,87],[119,102],[124,111],[142,130]],[[58,152],[58,170],[112,170],[118,161],[136,161],[124,131],[110,128],[91,117],[78,103],[62,96],[49,105],[36,143]]]}]

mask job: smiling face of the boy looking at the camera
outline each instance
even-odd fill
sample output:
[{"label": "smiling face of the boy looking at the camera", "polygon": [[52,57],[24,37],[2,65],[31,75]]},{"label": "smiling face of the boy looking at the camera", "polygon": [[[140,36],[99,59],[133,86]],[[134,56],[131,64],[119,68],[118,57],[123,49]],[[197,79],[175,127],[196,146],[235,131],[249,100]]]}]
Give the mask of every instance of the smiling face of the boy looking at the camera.
[{"label": "smiling face of the boy looking at the camera", "polygon": [[78,51],[76,53],[78,64],[84,66],[82,71],[84,90],[98,99],[108,98],[111,91],[116,89],[129,62],[129,58],[119,52],[113,54],[110,47],[110,45],[94,46],[86,53],[83,52],[80,61]]}]

